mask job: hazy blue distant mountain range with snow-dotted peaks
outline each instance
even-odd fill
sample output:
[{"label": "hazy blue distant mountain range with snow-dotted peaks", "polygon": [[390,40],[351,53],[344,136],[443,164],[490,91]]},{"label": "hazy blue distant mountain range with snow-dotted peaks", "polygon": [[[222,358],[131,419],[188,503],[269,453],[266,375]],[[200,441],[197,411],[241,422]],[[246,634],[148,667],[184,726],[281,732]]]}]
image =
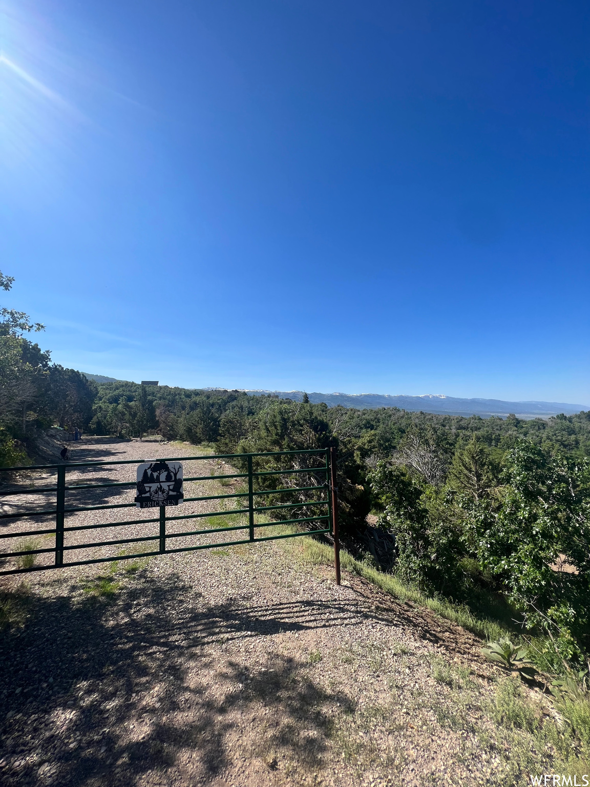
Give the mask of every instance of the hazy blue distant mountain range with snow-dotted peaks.
[{"label": "hazy blue distant mountain range with snow-dotted peaks", "polygon": [[[301,401],[303,391],[246,390],[254,396],[272,393],[282,399]],[[502,401],[501,399],[461,399],[444,393],[424,393],[422,396],[392,396],[389,393],[308,393],[309,401],[325,402],[328,407],[342,405],[360,410],[378,407],[399,407],[402,410],[436,412],[444,416],[481,416],[506,418],[513,414],[522,419],[551,418],[559,413],[573,415],[590,410],[590,405],[568,405],[560,401]]]}]

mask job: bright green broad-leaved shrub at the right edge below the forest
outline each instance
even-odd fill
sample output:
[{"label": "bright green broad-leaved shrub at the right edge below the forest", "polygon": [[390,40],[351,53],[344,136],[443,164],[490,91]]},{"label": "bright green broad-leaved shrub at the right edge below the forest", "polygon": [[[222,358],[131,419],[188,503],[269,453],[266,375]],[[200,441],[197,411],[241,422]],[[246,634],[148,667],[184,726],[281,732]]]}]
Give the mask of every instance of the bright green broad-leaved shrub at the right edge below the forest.
[{"label": "bright green broad-leaved shrub at the right edge below the forest", "polygon": [[[563,659],[581,660],[590,623],[590,463],[519,440],[504,467],[501,494],[466,508],[466,530],[529,630],[549,631]],[[563,557],[575,572],[555,571]]]}]

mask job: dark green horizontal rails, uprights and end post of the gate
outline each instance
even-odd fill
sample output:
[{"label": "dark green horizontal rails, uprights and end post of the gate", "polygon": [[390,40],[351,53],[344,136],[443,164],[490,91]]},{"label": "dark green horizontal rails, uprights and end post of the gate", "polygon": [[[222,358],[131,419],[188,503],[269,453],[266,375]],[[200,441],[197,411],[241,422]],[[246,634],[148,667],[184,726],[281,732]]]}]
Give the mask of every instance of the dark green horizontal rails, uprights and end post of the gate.
[{"label": "dark green horizontal rails, uprights and end post of the gate", "polygon": [[[276,470],[263,470],[254,471],[253,460],[255,457],[271,457],[271,456],[296,456],[296,455],[315,455],[318,460],[323,458],[323,464],[319,467],[302,467],[289,468],[289,469],[276,469]],[[159,518],[155,519],[131,519],[122,522],[107,522],[107,523],[94,523],[94,524],[79,524],[72,527],[66,526],[66,517],[69,514],[90,512],[90,511],[105,511],[112,508],[135,508],[135,502],[131,503],[116,503],[105,505],[89,505],[89,506],[71,506],[66,505],[66,495],[68,492],[78,492],[80,490],[98,490],[107,487],[124,489],[124,487],[135,488],[134,482],[112,482],[112,483],[66,483],[66,472],[68,469],[76,469],[83,467],[104,467],[111,465],[124,465],[124,464],[142,464],[146,460],[107,460],[96,462],[64,462],[61,464],[37,464],[29,465],[28,467],[0,467],[0,472],[15,472],[15,471],[32,471],[32,470],[57,470],[57,483],[55,486],[38,486],[25,490],[0,490],[0,497],[7,495],[27,495],[27,494],[46,494],[55,493],[55,508],[44,508],[41,511],[20,512],[14,514],[0,514],[0,526],[6,519],[25,519],[31,516],[51,516],[55,517],[55,527],[16,531],[11,530],[8,532],[0,532],[0,545],[2,539],[5,538],[31,538],[39,535],[54,535],[54,545],[52,547],[42,549],[21,549],[13,552],[0,551],[0,575],[9,574],[24,574],[30,571],[47,571],[51,568],[62,568],[67,566],[86,565],[87,563],[108,563],[113,560],[131,560],[138,557],[149,557],[161,554],[170,554],[174,552],[191,552],[196,549],[209,549],[212,547],[234,546],[238,544],[249,544],[256,541],[274,541],[278,538],[296,538],[297,536],[313,535],[313,534],[330,534],[334,539],[334,569],[336,571],[336,582],[340,584],[340,545],[338,541],[338,523],[337,523],[337,488],[336,488],[336,456],[334,448],[331,449],[309,449],[309,450],[296,450],[296,451],[274,451],[268,453],[240,453],[240,454],[219,454],[214,456],[179,456],[179,457],[166,457],[159,459],[159,461],[199,461],[199,460],[239,460],[240,462],[247,462],[248,471],[245,473],[230,473],[227,475],[202,475],[190,476],[184,478],[183,481],[219,481],[221,478],[244,478],[248,479],[248,490],[244,492],[234,492],[230,494],[219,495],[204,495],[201,497],[185,497],[184,502],[191,501],[213,501],[213,500],[228,500],[228,499],[242,499],[247,498],[247,508],[234,508],[231,510],[216,511],[216,512],[199,512],[194,514],[182,515],[167,515],[166,507],[159,506]],[[312,486],[288,486],[278,488],[275,490],[255,490],[254,481],[256,478],[263,478],[264,476],[272,475],[303,475],[313,473],[316,477],[325,478],[323,483],[318,483]],[[278,485],[275,485],[278,486]],[[318,490],[325,490],[325,499],[319,501],[305,501],[297,503],[281,503],[277,505],[255,505],[259,497],[267,495],[280,495],[285,493],[294,492],[311,492]],[[267,523],[256,523],[255,515],[263,514],[266,512],[287,512],[289,509],[302,508],[302,507],[322,507],[323,513],[317,516],[306,516],[294,519],[277,519]],[[232,525],[229,527],[214,527],[206,530],[190,530],[188,532],[170,532],[167,529],[167,523],[180,519],[201,519],[203,517],[214,517],[223,515],[247,514],[248,523]],[[288,515],[288,514],[287,514]],[[277,534],[271,536],[256,536],[256,528],[260,527],[275,527],[277,525],[301,525],[308,523],[319,523],[324,527],[315,527],[312,530],[301,530],[289,534]],[[82,531],[82,530],[100,530],[103,527],[125,527],[128,525],[159,524],[157,534],[141,536],[138,538],[121,538],[111,541],[93,541],[91,543],[82,544],[67,544],[65,536],[68,533]],[[170,549],[167,545],[168,539],[183,538],[186,536],[206,535],[213,533],[223,533],[225,531],[248,530],[248,538],[239,541],[221,541],[210,544],[198,544],[183,546],[175,549]],[[72,560],[65,561],[65,554],[76,549],[95,549],[104,546],[116,546],[124,544],[139,544],[146,541],[157,541],[157,549],[151,552],[135,552],[133,554],[119,554],[116,556],[97,557],[90,560]],[[172,542],[173,543],[173,542]],[[14,559],[24,556],[35,556],[53,552],[55,555],[53,563],[29,567],[17,567],[3,569],[2,563],[7,559]],[[6,564],[6,563],[5,563]],[[2,570],[3,569],[3,570]]]}]

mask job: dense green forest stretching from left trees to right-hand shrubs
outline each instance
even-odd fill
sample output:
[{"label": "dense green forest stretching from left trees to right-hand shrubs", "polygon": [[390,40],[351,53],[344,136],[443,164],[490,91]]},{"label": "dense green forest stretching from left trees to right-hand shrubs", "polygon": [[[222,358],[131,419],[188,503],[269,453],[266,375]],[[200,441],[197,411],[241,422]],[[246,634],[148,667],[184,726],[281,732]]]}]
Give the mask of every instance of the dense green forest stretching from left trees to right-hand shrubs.
[{"label": "dense green forest stretching from left trees to right-hand shrubs", "polygon": [[[11,284],[0,274],[0,286]],[[122,438],[155,431],[219,454],[334,445],[349,549],[426,593],[472,607],[482,594],[494,597],[524,630],[548,634],[560,658],[583,661],[590,645],[590,412],[463,418],[328,408],[307,397],[237,390],[97,385],[52,364],[50,353],[25,338],[41,325],[23,312],[0,314],[3,466],[26,462],[35,434],[53,425]],[[287,468],[294,460],[256,461]],[[313,467],[308,461],[297,467]],[[369,512],[376,528],[367,524]],[[374,548],[379,532],[385,552]]]}]

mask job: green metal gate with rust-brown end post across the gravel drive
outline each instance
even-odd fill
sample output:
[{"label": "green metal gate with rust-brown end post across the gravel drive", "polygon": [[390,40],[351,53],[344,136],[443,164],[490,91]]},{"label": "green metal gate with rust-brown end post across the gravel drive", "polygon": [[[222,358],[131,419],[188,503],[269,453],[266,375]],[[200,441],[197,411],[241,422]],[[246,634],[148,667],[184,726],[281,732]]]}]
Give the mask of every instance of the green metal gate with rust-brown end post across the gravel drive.
[{"label": "green metal gate with rust-brown end post across the gravel drive", "polygon": [[[283,461],[295,464],[298,460],[304,461],[304,464],[312,464],[312,467],[277,467],[271,470],[256,470],[255,466],[264,467],[264,463],[274,458],[275,462],[281,458]],[[311,462],[311,459],[314,461]],[[64,462],[61,464],[45,464],[33,465],[29,467],[2,467],[0,472],[11,473],[18,471],[46,471],[49,473],[57,474],[57,482],[55,486],[33,486],[29,489],[13,488],[9,490],[0,490],[0,497],[5,498],[8,496],[26,496],[28,494],[42,494],[47,496],[54,496],[53,502],[48,504],[41,510],[35,511],[20,511],[13,513],[0,514],[0,539],[31,539],[38,538],[51,538],[52,545],[48,547],[31,548],[31,543],[17,544],[17,549],[11,551],[0,551],[0,575],[10,574],[23,574],[29,571],[46,571],[51,568],[61,568],[67,566],[79,566],[87,563],[107,563],[112,560],[131,560],[133,558],[155,556],[161,554],[169,554],[171,552],[190,552],[196,549],[209,549],[211,547],[226,547],[238,544],[250,544],[257,541],[273,541],[277,538],[296,538],[297,536],[312,535],[312,534],[330,534],[334,540],[334,569],[336,571],[336,582],[340,584],[340,546],[338,541],[338,527],[337,527],[337,487],[336,487],[336,461],[334,449],[312,449],[312,450],[297,450],[297,451],[278,451],[272,453],[240,453],[240,454],[222,454],[219,456],[179,456],[179,457],[165,457],[158,458],[157,461],[182,461],[182,462],[199,462],[212,460],[226,460],[233,462],[238,467],[242,466],[244,472],[229,473],[227,475],[195,475],[184,478],[184,482],[203,482],[203,481],[219,481],[222,478],[226,479],[242,479],[242,482],[247,482],[247,488],[242,491],[232,491],[227,494],[218,495],[205,495],[197,497],[185,497],[185,503],[191,501],[225,501],[235,500],[238,502],[233,509],[227,510],[223,508],[221,511],[213,512],[197,512],[192,514],[178,514],[170,515],[166,512],[165,506],[159,506],[156,509],[146,509],[158,511],[159,515],[156,518],[149,519],[128,519],[108,523],[94,523],[94,524],[69,524],[70,517],[75,514],[83,514],[83,512],[97,512],[109,509],[120,508],[135,508],[135,501],[117,504],[104,504],[104,505],[76,505],[70,504],[68,497],[72,497],[72,493],[79,494],[83,490],[88,490],[91,493],[93,490],[103,490],[109,487],[116,487],[117,490],[124,491],[126,487],[135,488],[135,481],[124,482],[103,482],[103,483],[68,483],[68,471],[90,471],[93,468],[98,469],[101,467],[110,467],[113,465],[138,465],[146,460],[122,460],[122,461],[98,461],[98,462]],[[286,486],[289,478],[298,478],[301,475],[307,476],[307,486]],[[281,483],[272,482],[270,486],[276,486],[276,489],[267,489],[269,480],[275,476],[279,477]],[[304,494],[307,493],[308,500],[304,499]],[[299,499],[295,502],[268,504],[273,503],[275,500],[281,500],[281,496],[293,497],[297,495]],[[319,497],[319,499],[317,499]],[[267,504],[264,504],[265,498]],[[26,497],[25,497],[26,499]],[[244,501],[247,505],[240,505]],[[13,506],[17,504],[12,504]],[[218,506],[219,508],[220,506]],[[309,513],[309,509],[317,511],[312,515],[306,516],[293,516],[297,514],[297,510],[303,513]],[[174,507],[173,511],[179,510]],[[290,514],[288,513],[290,512]],[[280,518],[282,514],[286,514],[287,519]],[[175,530],[174,523],[179,523],[181,520],[186,519],[210,519],[216,517],[228,517],[243,515],[243,523],[238,524],[223,524],[223,527],[210,527],[207,529],[198,530]],[[268,521],[263,523],[256,523],[256,517],[267,516]],[[278,517],[278,518],[277,518]],[[290,517],[290,518],[289,518]],[[15,529],[10,527],[15,524],[15,520],[26,520],[28,518],[53,518],[53,527],[38,527],[36,529],[24,530]],[[12,521],[11,521],[12,520]],[[2,526],[9,527],[9,530],[3,530]],[[142,535],[135,538],[116,538],[109,541],[83,541],[81,543],[72,543],[70,541],[71,534],[83,533],[86,530],[98,530],[106,527],[130,527],[135,525],[149,525],[153,523],[153,533]],[[47,522],[50,524],[50,522]],[[53,525],[53,522],[51,523]],[[260,535],[261,528],[275,527],[278,525],[290,525],[294,530],[292,533],[287,534],[274,534],[274,535]],[[303,527],[303,529],[301,529]],[[194,536],[206,536],[207,534],[219,534],[225,532],[245,531],[245,538],[235,540],[223,540],[213,543],[205,544],[192,544],[181,547],[175,546],[179,541],[175,539],[188,538]],[[101,549],[104,547],[122,547],[123,545],[140,545],[149,544],[150,541],[155,541],[155,549],[143,551],[139,549],[138,552],[116,554],[109,556],[90,557],[87,560],[68,560],[68,556],[76,557],[76,550],[92,550]],[[0,542],[0,543],[6,543]],[[27,546],[28,548],[22,548]],[[35,545],[33,545],[35,546]],[[134,546],[135,549],[135,546]],[[35,561],[39,556],[51,556],[53,560],[50,563],[42,565],[35,565]],[[26,565],[26,563],[31,563]],[[17,564],[20,563],[20,566]]]}]

